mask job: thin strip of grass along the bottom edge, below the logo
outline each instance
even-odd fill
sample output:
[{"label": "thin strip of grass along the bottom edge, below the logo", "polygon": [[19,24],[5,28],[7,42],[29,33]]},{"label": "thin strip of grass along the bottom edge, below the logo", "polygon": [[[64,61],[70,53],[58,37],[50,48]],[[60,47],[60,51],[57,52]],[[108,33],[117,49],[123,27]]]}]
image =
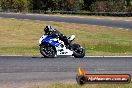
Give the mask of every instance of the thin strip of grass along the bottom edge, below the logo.
[{"label": "thin strip of grass along the bottom edge, below the logo", "polygon": [[49,85],[35,85],[31,88],[132,88],[132,84],[86,84],[80,86],[71,83],[54,83]]}]

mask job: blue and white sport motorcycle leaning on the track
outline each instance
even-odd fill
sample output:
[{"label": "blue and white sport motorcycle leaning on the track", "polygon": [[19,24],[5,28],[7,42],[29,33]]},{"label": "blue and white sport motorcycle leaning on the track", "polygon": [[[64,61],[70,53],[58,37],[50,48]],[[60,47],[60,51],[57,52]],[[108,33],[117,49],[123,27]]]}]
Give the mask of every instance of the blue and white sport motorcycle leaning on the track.
[{"label": "blue and white sport motorcycle leaning on the track", "polygon": [[49,35],[43,35],[39,39],[40,53],[46,58],[54,58],[57,56],[74,56],[75,58],[83,58],[85,49],[79,44],[72,44],[75,35],[68,37],[69,45],[65,45],[62,40],[56,36],[53,38]]}]

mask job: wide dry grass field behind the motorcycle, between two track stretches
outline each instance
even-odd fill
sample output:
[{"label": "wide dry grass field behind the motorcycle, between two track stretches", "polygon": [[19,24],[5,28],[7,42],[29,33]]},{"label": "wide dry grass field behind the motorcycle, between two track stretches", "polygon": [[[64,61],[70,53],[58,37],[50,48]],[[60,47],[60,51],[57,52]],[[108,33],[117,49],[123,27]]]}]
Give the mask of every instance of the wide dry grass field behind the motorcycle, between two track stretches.
[{"label": "wide dry grass field behind the motorcycle, between two track stretches", "polygon": [[38,39],[46,25],[76,35],[87,55],[132,55],[132,30],[9,18],[0,18],[0,55],[40,55]]}]

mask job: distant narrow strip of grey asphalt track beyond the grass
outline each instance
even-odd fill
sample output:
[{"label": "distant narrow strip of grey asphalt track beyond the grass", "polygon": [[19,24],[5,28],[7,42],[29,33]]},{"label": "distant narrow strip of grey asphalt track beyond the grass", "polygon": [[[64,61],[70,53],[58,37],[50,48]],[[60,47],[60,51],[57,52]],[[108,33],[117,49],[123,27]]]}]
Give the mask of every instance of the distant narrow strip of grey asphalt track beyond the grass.
[{"label": "distant narrow strip of grey asphalt track beyond the grass", "polygon": [[93,24],[93,25],[100,25],[100,26],[132,29],[132,21],[123,21],[123,20],[44,16],[44,15],[29,15],[29,14],[4,14],[4,13],[0,13],[0,17],[16,18],[16,19],[31,19],[31,20],[41,20],[41,21],[54,21],[54,22],[67,22],[67,23],[79,23],[79,24]]}]

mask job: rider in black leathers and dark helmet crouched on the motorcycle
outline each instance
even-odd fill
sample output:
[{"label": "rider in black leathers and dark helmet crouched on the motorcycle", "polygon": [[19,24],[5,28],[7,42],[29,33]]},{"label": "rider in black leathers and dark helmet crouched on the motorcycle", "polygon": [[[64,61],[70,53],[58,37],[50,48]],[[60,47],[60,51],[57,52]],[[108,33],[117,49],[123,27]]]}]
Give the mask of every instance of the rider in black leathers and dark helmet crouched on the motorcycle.
[{"label": "rider in black leathers and dark helmet crouched on the motorcycle", "polygon": [[58,36],[59,39],[65,43],[66,46],[70,45],[70,41],[68,40],[68,38],[62,33],[60,33],[58,30],[52,28],[52,26],[46,26],[44,28],[44,32],[45,34],[50,35],[52,37]]}]

